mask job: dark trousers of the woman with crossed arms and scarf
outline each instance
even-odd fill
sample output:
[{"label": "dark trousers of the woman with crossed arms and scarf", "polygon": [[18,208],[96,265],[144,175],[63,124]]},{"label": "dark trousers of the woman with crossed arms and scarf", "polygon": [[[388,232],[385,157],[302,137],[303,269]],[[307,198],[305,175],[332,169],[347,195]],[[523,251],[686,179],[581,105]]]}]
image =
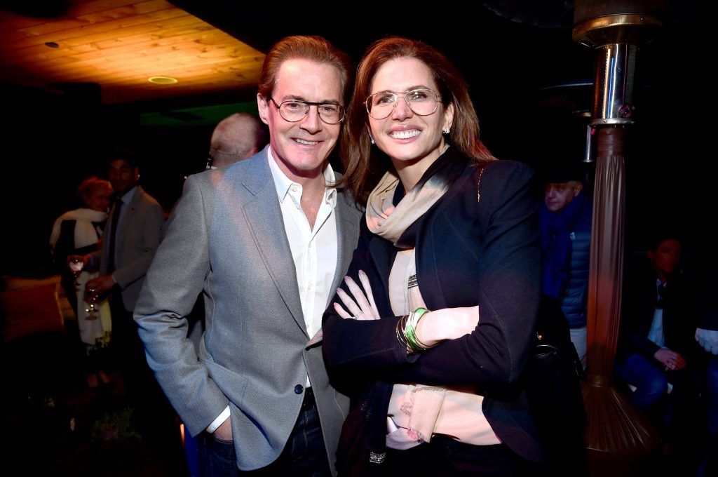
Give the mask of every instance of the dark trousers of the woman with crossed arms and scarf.
[{"label": "dark trousers of the woman with crossed arms and scarf", "polygon": [[407,450],[387,449],[387,476],[526,476],[530,464],[505,444],[471,445],[435,435]]}]

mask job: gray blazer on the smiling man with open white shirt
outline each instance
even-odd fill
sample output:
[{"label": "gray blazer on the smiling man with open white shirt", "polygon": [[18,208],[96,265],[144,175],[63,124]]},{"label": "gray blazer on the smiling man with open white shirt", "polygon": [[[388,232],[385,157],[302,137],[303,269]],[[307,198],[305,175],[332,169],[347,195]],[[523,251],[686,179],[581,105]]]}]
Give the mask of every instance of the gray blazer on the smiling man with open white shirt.
[{"label": "gray blazer on the smiling man with open white shirt", "polygon": [[[332,290],[349,266],[362,216],[342,190],[335,213]],[[266,149],[187,179],[135,320],[149,366],[192,435],[229,404],[242,470],[279,457],[302,406],[295,386],[303,388],[308,373],[334,471],[349,402],[329,384],[321,342],[307,346],[296,277]],[[197,356],[185,317],[200,292],[206,330]]]}]

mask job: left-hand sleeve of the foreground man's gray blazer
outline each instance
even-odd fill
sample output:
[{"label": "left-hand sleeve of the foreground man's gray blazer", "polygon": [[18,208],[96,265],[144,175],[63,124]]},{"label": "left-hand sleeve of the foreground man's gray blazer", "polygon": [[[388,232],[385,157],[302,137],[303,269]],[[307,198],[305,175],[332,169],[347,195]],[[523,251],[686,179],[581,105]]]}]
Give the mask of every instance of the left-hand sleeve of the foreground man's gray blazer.
[{"label": "left-hand sleeve of the foreground man's gray blazer", "polygon": [[210,273],[209,226],[202,190],[191,176],[134,312],[147,363],[192,435],[229,404],[187,338],[187,315]]}]

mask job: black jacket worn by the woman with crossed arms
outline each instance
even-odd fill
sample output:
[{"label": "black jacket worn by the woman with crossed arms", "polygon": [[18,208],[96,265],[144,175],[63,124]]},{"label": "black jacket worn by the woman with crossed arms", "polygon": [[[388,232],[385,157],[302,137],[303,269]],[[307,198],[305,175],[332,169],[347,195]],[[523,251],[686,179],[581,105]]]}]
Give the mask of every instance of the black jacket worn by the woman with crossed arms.
[{"label": "black jacket worn by the woman with crossed arms", "polygon": [[[371,432],[377,452],[383,450],[392,383],[475,384],[496,435],[523,458],[541,460],[521,380],[533,344],[541,279],[533,172],[518,162],[495,161],[481,174],[455,150],[447,154],[454,160],[442,167],[454,168],[452,185],[400,241],[409,237],[416,246],[417,279],[429,310],[479,305],[479,325],[470,335],[407,355],[396,339],[401,317],[393,316],[388,300],[397,249],[370,233],[363,221],[348,275],[358,284],[359,270],[368,275],[386,318],[343,320],[329,307],[323,348],[330,376],[350,376],[354,384],[365,376],[373,382],[355,404],[365,416],[376,417],[379,429]],[[338,297],[332,301],[340,303]]]}]

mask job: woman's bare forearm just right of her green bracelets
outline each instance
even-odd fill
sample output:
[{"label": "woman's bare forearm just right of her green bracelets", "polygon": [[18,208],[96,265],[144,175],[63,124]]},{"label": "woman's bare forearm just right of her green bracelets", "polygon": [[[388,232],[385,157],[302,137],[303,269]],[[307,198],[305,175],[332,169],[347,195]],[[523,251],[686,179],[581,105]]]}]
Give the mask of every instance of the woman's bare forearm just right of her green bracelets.
[{"label": "woman's bare forearm just right of her green bracelets", "polygon": [[426,346],[468,335],[479,324],[479,307],[442,308],[429,311],[416,325],[416,338]]}]

